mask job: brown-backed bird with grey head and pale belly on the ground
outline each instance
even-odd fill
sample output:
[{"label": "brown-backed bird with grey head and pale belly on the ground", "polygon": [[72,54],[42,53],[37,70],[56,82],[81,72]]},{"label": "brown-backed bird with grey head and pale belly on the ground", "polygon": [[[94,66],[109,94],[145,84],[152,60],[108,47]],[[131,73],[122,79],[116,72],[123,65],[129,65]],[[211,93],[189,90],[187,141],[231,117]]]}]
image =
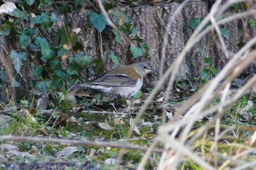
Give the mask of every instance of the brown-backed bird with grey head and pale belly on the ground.
[{"label": "brown-backed bird with grey head and pale belly on the ground", "polygon": [[151,72],[158,72],[146,62],[132,63],[129,66],[118,66],[102,74],[96,80],[80,84],[80,87],[99,90],[109,96],[124,96],[129,98],[135,95],[143,85],[143,77]]}]

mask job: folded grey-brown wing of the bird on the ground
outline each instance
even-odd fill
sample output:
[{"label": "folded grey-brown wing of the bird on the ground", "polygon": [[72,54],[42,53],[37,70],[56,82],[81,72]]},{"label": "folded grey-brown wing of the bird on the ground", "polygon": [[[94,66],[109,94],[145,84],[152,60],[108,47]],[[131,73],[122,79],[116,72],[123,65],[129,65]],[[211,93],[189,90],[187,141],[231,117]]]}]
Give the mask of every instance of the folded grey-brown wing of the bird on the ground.
[{"label": "folded grey-brown wing of the bird on the ground", "polygon": [[132,87],[136,84],[137,80],[129,78],[126,74],[105,74],[99,77],[91,85],[109,85],[114,87]]}]

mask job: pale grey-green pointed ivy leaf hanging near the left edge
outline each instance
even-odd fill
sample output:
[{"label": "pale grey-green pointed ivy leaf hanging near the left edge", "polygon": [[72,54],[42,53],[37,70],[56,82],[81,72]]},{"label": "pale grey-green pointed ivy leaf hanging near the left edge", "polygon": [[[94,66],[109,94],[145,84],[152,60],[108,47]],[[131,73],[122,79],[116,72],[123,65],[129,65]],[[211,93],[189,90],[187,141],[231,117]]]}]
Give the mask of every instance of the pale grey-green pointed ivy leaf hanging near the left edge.
[{"label": "pale grey-green pointed ivy leaf hanging near the left edge", "polygon": [[27,55],[24,52],[17,53],[15,50],[12,50],[10,53],[10,58],[12,58],[12,63],[16,72],[20,72],[21,66],[23,66],[23,61],[26,61]]}]

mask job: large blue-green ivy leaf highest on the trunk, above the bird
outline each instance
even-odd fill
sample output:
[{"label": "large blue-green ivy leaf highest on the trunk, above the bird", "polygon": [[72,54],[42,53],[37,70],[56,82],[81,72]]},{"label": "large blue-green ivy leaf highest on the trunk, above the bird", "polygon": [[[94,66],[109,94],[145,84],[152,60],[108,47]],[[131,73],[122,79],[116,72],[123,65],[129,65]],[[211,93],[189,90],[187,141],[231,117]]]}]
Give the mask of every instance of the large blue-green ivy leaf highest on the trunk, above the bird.
[{"label": "large blue-green ivy leaf highest on the trunk, above the bird", "polygon": [[108,25],[108,22],[107,20],[105,20],[105,17],[102,13],[97,14],[96,12],[90,12],[89,18],[91,20],[91,23],[94,25],[95,28],[97,28],[99,32],[102,32],[105,29],[106,25]]}]

